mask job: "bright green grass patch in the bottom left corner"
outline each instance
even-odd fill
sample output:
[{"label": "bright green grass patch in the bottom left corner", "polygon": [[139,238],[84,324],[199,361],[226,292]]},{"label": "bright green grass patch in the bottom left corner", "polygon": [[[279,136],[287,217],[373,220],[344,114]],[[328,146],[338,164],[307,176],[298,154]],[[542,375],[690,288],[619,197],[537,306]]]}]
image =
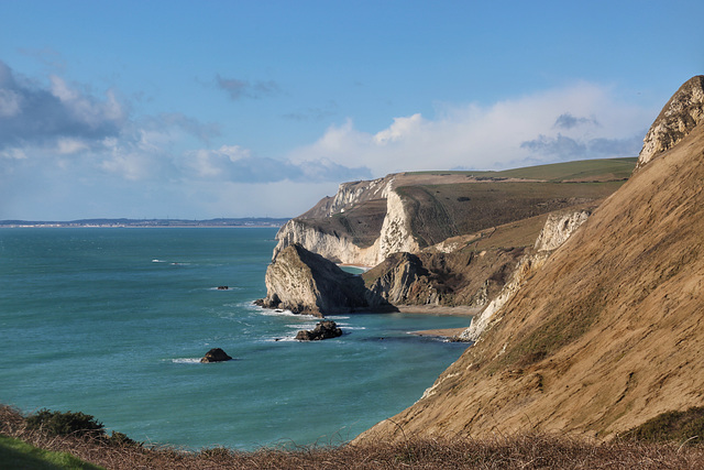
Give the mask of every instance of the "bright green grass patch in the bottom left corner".
[{"label": "bright green grass patch in the bottom left corner", "polygon": [[68,452],[52,452],[0,435],[0,468],[26,470],[101,469]]}]

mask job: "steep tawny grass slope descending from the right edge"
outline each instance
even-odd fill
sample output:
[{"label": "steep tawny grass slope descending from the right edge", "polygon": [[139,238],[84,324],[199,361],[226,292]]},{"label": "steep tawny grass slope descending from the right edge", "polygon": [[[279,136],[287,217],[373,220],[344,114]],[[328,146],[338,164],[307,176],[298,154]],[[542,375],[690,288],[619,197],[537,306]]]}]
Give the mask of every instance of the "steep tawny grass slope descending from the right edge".
[{"label": "steep tawny grass slope descending from the right edge", "polygon": [[688,132],[639,165],[421,400],[358,440],[610,437],[703,405],[704,123]]}]

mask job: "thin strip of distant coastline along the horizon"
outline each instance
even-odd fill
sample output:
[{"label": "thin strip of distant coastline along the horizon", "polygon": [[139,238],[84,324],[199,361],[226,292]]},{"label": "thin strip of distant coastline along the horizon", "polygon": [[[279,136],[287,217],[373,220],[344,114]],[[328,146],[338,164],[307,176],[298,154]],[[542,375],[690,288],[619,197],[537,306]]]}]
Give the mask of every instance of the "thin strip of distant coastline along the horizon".
[{"label": "thin strip of distant coastline along the horizon", "polygon": [[262,228],[282,227],[288,218],[251,217],[186,219],[79,219],[70,221],[0,220],[0,228]]}]

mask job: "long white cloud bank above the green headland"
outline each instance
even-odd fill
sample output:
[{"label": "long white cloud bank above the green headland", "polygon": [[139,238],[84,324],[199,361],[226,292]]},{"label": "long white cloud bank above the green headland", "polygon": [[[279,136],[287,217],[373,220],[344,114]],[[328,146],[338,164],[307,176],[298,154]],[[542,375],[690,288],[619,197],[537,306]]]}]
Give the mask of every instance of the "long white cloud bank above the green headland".
[{"label": "long white cloud bank above the green headland", "polygon": [[[367,166],[374,176],[402,171],[494,170],[575,157],[635,156],[654,113],[656,110],[618,101],[607,87],[578,83],[491,106],[440,106],[435,119],[419,113],[395,118],[387,129],[374,134],[356,130],[348,120],[330,127],[318,141],[292,151],[289,156],[293,161],[324,157],[340,164]],[[556,122],[562,125],[556,127]],[[525,144],[532,141],[558,144],[549,151],[544,151],[548,146]],[[571,152],[560,153],[560,149]]]}]

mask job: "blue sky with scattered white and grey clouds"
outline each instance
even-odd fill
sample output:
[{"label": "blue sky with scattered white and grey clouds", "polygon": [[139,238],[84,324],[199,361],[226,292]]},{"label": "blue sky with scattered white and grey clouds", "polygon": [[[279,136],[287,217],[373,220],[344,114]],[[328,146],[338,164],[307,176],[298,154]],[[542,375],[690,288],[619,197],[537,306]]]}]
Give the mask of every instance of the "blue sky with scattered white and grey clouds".
[{"label": "blue sky with scattered white and grey clouds", "polygon": [[637,156],[704,2],[0,0],[0,220],[294,217],[342,182]]}]

